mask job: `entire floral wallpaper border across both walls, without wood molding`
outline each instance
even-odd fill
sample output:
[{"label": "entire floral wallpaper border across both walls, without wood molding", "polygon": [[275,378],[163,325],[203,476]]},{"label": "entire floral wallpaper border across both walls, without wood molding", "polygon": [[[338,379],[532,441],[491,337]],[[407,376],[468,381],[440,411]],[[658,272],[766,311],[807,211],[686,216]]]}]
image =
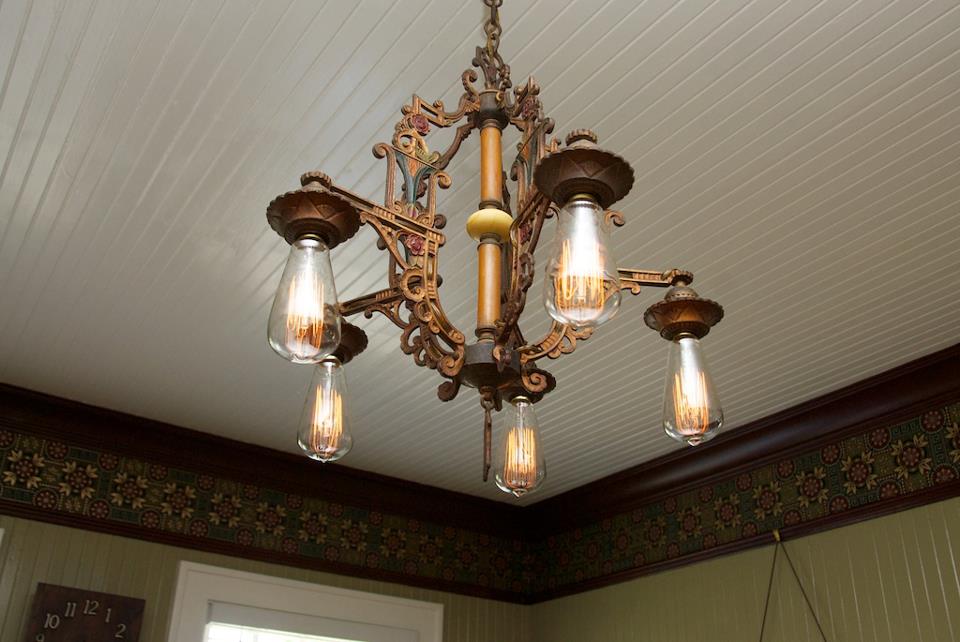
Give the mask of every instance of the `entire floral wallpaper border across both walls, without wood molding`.
[{"label": "entire floral wallpaper border across both walls, without wood molding", "polygon": [[0,512],[31,507],[35,517],[57,514],[80,527],[111,524],[145,539],[163,533],[184,546],[215,543],[239,556],[255,551],[281,563],[524,600],[941,485],[960,494],[958,424],[960,403],[934,408],[536,542],[6,428]]}]

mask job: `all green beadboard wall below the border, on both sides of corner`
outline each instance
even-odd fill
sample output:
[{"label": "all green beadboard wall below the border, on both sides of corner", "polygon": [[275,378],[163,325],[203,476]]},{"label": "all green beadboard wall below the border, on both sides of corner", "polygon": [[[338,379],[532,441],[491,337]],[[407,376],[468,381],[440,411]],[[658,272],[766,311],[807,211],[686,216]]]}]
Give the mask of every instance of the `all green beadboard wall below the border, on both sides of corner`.
[{"label": "all green beadboard wall below the border, on both sides of corner", "polygon": [[[147,600],[142,642],[166,642],[177,563],[191,560],[445,607],[446,642],[750,642],[759,638],[772,548],[519,606],[152,544],[0,516],[0,640],[19,642],[37,582]],[[787,548],[831,642],[960,640],[960,499]],[[781,556],[780,561],[783,562]],[[767,642],[819,640],[778,564]]]}]

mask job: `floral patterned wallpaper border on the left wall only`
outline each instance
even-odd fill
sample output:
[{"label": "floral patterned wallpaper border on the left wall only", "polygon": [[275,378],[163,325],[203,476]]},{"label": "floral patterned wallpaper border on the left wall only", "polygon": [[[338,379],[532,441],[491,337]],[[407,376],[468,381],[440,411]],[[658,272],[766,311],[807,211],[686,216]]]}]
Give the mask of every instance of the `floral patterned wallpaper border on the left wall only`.
[{"label": "floral patterned wallpaper border on the left wall only", "polygon": [[[238,483],[0,430],[0,512],[29,505],[69,515],[77,526],[129,527],[138,537],[176,536],[281,554],[278,561],[392,573],[521,594],[529,578],[528,547],[401,515]],[[438,516],[439,517],[439,516]],[[42,514],[41,514],[42,518]],[[167,538],[169,541],[169,538]]]}]

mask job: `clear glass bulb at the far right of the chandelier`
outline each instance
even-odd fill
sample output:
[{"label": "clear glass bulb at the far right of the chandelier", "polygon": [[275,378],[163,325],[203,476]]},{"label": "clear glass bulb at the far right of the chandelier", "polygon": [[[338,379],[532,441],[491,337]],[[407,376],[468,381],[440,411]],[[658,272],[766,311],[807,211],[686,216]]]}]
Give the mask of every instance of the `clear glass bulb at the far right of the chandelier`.
[{"label": "clear glass bulb at the far right of the chandelier", "polygon": [[691,446],[720,431],[723,409],[707,371],[700,340],[692,335],[670,342],[667,387],[663,395],[663,429]]}]

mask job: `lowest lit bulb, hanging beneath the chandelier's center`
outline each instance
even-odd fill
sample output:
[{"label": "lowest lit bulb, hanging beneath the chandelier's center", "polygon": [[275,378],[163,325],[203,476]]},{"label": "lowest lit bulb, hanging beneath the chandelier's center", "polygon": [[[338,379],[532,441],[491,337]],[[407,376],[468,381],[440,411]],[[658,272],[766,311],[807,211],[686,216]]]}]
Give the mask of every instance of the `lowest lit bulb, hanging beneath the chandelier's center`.
[{"label": "lowest lit bulb, hanging beneath the chandelier's center", "polygon": [[500,490],[520,497],[543,482],[547,467],[533,404],[526,397],[514,397],[510,403],[514,412],[507,415],[494,460],[494,479]]}]

